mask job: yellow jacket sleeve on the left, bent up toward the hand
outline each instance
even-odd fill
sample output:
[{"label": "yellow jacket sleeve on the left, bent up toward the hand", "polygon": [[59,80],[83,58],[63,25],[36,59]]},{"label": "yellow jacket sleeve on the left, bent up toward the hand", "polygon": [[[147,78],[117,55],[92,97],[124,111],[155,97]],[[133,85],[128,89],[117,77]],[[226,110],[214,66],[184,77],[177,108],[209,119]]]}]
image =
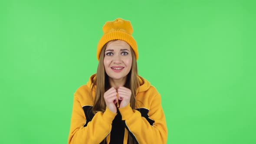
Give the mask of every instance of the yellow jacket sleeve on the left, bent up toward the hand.
[{"label": "yellow jacket sleeve on the left, bent up toward the hand", "polygon": [[117,114],[106,108],[104,113],[97,112],[84,127],[85,113],[78,95],[74,94],[68,144],[99,144],[110,133],[115,115]]}]

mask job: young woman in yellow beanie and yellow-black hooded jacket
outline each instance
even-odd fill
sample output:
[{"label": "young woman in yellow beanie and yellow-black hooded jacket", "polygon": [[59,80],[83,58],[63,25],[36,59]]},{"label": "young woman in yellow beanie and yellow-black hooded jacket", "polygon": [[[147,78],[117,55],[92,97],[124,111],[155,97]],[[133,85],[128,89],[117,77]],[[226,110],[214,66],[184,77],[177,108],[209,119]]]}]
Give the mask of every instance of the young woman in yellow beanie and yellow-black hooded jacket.
[{"label": "young woman in yellow beanie and yellow-black hooded jacket", "polygon": [[166,144],[161,96],[138,75],[130,21],[107,21],[97,73],[74,94],[68,144]]}]

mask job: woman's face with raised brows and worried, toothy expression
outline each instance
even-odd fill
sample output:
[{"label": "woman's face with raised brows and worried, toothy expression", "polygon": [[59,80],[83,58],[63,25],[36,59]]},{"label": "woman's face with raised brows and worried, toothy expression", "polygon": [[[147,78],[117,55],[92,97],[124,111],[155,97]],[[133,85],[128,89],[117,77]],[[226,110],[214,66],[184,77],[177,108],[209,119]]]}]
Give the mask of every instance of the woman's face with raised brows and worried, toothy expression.
[{"label": "woman's face with raised brows and worried, toothy expression", "polygon": [[131,70],[131,48],[122,40],[111,41],[105,49],[104,67],[107,75],[115,80],[125,78]]}]

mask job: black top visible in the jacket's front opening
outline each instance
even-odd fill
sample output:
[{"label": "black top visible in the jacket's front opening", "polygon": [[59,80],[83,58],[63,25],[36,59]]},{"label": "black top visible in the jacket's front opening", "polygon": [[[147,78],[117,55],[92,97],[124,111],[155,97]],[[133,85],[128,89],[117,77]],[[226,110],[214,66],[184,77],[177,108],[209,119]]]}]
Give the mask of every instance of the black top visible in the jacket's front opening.
[{"label": "black top visible in the jacket's front opening", "polygon": [[112,121],[109,144],[123,144],[125,136],[125,125],[122,123],[122,116],[117,108],[117,115]]}]

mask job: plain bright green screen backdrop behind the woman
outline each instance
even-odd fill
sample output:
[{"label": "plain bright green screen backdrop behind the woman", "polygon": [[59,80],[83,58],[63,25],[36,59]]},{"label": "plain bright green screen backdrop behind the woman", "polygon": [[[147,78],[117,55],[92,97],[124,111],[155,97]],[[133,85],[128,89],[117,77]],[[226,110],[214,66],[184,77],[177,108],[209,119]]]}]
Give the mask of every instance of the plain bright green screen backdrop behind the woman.
[{"label": "plain bright green screen backdrop behind the woman", "polygon": [[130,20],[168,144],[256,143],[254,0],[0,2],[1,144],[66,144],[102,26]]}]

